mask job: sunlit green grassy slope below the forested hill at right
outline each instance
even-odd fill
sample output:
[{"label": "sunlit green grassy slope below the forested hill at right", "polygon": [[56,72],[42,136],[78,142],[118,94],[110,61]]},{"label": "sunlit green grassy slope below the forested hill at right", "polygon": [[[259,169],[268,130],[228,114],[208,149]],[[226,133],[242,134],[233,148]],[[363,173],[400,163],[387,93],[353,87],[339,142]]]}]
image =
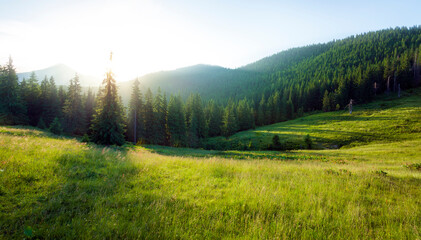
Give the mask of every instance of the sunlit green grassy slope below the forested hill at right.
[{"label": "sunlit green grassy slope below the forested hill at right", "polygon": [[266,149],[279,135],[286,149],[304,148],[309,134],[315,148],[338,148],[371,142],[392,142],[421,138],[421,89],[405,92],[401,98],[384,95],[377,101],[347,110],[316,113],[292,121],[239,132],[229,139],[211,138],[211,149]]}]

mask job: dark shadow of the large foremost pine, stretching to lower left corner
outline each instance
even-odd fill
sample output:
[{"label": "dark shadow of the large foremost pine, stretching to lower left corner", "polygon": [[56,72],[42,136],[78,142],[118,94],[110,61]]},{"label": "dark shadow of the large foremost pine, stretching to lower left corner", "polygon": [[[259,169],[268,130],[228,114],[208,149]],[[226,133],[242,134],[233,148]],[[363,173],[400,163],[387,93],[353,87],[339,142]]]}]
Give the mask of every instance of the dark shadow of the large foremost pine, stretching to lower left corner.
[{"label": "dark shadow of the large foremost pine, stretching to lower left corner", "polygon": [[[11,239],[83,238],[84,233],[90,231],[89,225],[95,225],[89,221],[98,203],[112,198],[124,189],[127,179],[137,174],[138,169],[126,157],[124,149],[115,151],[99,147],[76,152],[69,150],[56,156],[54,169],[50,170],[53,176],[45,177],[57,177],[58,181],[40,186],[39,193],[36,189],[18,192],[15,197],[21,198],[24,205],[17,210],[18,214],[11,214],[2,224],[4,228],[0,228],[0,235]],[[31,182],[19,184],[35,185]],[[18,204],[18,209],[22,204],[10,203]]]}]

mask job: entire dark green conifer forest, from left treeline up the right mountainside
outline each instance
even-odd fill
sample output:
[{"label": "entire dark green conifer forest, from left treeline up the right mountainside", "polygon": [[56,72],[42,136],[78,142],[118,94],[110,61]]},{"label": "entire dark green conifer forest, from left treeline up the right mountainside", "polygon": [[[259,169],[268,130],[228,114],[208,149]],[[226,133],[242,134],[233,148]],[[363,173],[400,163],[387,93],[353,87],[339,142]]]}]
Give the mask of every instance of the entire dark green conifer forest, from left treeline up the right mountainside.
[{"label": "entire dark green conifer forest, from left treeline up the right mountainside", "polygon": [[280,52],[222,74],[188,96],[152,92],[136,80],[127,106],[111,70],[98,92],[82,92],[77,75],[68,86],[35,74],[19,82],[10,58],[1,67],[0,124],[31,125],[104,145],[197,148],[209,137],[228,138],[306,112],[343,110],[351,99],[362,104],[417,87],[420,55],[421,27],[386,29]]}]

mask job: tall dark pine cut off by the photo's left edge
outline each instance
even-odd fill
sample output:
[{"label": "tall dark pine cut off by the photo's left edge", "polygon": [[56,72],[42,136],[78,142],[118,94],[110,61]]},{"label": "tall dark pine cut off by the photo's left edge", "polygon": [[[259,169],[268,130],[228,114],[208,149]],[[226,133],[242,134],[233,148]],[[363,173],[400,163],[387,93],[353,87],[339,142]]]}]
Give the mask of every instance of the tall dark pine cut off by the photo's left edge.
[{"label": "tall dark pine cut off by the photo's left edge", "polygon": [[0,69],[0,124],[25,124],[26,120],[26,108],[20,96],[18,77],[12,58],[9,57],[7,65]]}]

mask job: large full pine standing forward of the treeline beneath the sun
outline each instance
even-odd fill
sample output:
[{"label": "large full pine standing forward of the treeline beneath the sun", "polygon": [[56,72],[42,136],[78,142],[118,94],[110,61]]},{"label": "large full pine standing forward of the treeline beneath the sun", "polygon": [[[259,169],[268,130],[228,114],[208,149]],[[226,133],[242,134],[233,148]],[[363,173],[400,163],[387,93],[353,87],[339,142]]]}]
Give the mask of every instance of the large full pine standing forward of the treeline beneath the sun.
[{"label": "large full pine standing forward of the treeline beneath the sun", "polygon": [[91,140],[103,145],[123,145],[124,112],[117,92],[117,85],[109,70],[98,96],[98,105],[92,123]]}]

